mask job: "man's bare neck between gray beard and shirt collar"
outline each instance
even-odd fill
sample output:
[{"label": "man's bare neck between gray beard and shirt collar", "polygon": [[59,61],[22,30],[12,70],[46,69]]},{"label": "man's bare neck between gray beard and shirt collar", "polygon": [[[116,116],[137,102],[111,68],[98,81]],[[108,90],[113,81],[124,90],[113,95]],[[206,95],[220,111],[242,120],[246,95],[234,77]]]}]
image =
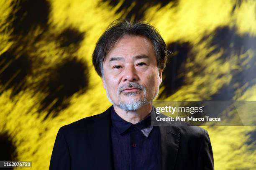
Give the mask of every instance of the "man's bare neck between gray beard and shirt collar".
[{"label": "man's bare neck between gray beard and shirt collar", "polygon": [[120,116],[122,119],[132,124],[136,124],[141,122],[148,114],[150,114],[152,110],[152,102],[135,111],[124,111],[116,105],[114,105],[114,109],[118,116]]}]

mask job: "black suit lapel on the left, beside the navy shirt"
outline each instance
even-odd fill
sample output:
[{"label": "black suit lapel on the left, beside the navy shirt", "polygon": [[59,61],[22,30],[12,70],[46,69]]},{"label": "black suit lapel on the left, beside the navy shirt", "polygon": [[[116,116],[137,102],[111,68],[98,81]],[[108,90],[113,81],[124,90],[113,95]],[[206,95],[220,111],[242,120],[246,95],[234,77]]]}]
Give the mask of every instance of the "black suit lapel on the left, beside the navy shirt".
[{"label": "black suit lapel on the left, beside the navy shirt", "polygon": [[100,119],[88,125],[88,135],[95,165],[99,170],[112,170],[110,108],[100,115]]}]

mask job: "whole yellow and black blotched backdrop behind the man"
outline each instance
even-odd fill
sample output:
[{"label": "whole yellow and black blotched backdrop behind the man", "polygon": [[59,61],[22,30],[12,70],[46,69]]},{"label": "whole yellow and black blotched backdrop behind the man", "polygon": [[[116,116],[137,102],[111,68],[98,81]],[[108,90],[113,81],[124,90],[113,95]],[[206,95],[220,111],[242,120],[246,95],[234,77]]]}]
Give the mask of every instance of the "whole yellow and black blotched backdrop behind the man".
[{"label": "whole yellow and black blotched backdrop behind the man", "polygon": [[[255,0],[0,0],[0,15],[0,160],[48,169],[59,127],[110,106],[91,56],[117,18],[172,52],[159,100],[256,100]],[[256,169],[254,126],[204,128],[216,170]]]}]

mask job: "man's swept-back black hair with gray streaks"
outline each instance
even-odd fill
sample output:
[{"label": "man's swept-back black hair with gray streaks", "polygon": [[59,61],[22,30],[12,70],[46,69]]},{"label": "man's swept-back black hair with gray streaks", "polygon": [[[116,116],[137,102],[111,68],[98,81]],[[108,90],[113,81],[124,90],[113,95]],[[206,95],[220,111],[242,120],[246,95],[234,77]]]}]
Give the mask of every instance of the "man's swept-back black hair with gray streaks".
[{"label": "man's swept-back black hair with gray streaks", "polygon": [[144,36],[154,46],[157,67],[164,70],[167,61],[166,44],[154,26],[144,22],[132,22],[126,19],[115,20],[102,34],[92,54],[92,63],[100,77],[104,76],[103,62],[115,44],[124,36]]}]

